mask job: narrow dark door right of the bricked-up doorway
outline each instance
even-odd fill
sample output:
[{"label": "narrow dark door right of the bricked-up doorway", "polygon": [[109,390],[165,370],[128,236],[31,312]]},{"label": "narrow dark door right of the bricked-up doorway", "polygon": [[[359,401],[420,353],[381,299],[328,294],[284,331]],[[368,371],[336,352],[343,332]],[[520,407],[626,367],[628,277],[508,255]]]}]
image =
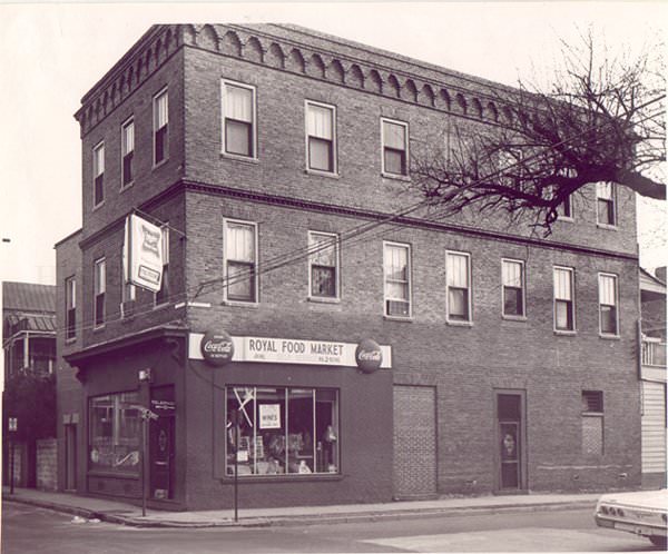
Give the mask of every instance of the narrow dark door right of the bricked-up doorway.
[{"label": "narrow dark door right of the bricked-up doorway", "polygon": [[525,488],[523,392],[498,392],[497,398],[497,475],[502,492]]}]

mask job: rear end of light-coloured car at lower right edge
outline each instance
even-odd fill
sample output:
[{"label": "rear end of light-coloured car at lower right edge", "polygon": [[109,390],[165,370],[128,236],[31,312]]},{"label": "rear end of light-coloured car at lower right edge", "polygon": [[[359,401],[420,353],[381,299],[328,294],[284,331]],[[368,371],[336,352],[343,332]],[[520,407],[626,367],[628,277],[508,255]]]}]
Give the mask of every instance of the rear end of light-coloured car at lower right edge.
[{"label": "rear end of light-coloured car at lower right edge", "polygon": [[668,489],[603,494],[596,505],[596,524],[646,536],[666,548]]}]

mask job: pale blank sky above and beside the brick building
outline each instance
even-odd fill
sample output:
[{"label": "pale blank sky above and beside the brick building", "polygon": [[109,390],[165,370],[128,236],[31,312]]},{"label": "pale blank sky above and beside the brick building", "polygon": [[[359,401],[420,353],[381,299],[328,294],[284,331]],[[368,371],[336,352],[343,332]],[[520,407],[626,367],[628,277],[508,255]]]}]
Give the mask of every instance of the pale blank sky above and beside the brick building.
[{"label": "pale blank sky above and beside the brick building", "polygon": [[[549,79],[588,26],[611,56],[665,36],[668,2],[0,3],[0,280],[55,284],[53,245],[81,226],[72,116],[150,24],[269,21],[514,85]],[[666,265],[666,202],[638,219],[641,265]]]}]

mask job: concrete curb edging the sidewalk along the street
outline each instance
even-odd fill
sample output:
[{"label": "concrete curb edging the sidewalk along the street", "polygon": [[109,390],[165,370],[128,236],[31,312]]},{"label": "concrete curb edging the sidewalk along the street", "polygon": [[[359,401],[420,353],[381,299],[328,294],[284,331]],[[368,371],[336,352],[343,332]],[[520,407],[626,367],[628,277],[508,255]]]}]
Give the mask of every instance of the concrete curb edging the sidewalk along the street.
[{"label": "concrete curb edging the sidewalk along the street", "polygon": [[304,525],[322,525],[322,524],[340,524],[340,523],[363,523],[363,522],[383,522],[393,520],[419,518],[425,516],[443,516],[454,517],[459,515],[491,515],[497,513],[508,512],[530,512],[540,511],[557,511],[557,510],[593,510],[596,501],[563,501],[536,504],[499,504],[499,505],[482,505],[482,506],[452,506],[452,507],[429,507],[429,508],[411,508],[411,510],[392,510],[386,512],[347,512],[347,513],[322,513],[322,514],[304,514],[291,516],[275,517],[247,517],[239,518],[238,522],[233,520],[220,521],[204,521],[204,522],[176,522],[165,520],[145,520],[134,515],[111,514],[104,511],[94,511],[80,508],[47,501],[37,501],[32,498],[19,498],[2,496],[3,502],[17,502],[32,506],[62,512],[67,514],[78,515],[81,517],[98,518],[107,523],[119,525],[128,525],[131,527],[143,528],[207,528],[207,527],[273,527],[273,526],[304,526]]}]

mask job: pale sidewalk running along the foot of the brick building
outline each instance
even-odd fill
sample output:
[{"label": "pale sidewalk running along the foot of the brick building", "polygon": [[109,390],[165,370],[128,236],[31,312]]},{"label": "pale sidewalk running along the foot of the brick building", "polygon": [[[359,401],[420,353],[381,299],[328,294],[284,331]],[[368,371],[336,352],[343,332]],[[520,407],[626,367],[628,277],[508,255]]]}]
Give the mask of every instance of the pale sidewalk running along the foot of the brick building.
[{"label": "pale sidewalk running along the foot of the brick building", "polygon": [[386,518],[422,517],[424,515],[489,514],[499,511],[529,511],[558,508],[591,508],[600,494],[529,494],[509,496],[478,496],[440,498],[434,501],[404,501],[383,504],[350,504],[335,506],[296,506],[281,508],[238,508],[238,522],[233,510],[200,512],[161,512],[141,508],[121,502],[90,498],[66,493],[50,493],[31,488],[2,488],[2,502],[18,502],[137,527],[222,527],[313,525]]}]

